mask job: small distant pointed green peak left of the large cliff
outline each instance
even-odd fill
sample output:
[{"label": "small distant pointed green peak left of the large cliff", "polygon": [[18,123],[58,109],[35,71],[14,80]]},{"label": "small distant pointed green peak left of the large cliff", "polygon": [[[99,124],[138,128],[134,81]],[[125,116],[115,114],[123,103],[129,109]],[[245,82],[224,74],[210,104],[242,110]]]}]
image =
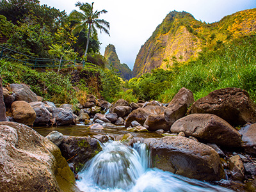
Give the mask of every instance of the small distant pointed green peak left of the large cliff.
[{"label": "small distant pointed green peak left of the large cliff", "polygon": [[122,79],[131,79],[132,71],[125,63],[120,63],[114,45],[109,44],[106,47],[104,57],[108,61],[108,65],[106,65],[107,68],[110,68],[112,65],[114,68],[118,70],[118,72],[120,73],[120,77],[122,77]]}]

